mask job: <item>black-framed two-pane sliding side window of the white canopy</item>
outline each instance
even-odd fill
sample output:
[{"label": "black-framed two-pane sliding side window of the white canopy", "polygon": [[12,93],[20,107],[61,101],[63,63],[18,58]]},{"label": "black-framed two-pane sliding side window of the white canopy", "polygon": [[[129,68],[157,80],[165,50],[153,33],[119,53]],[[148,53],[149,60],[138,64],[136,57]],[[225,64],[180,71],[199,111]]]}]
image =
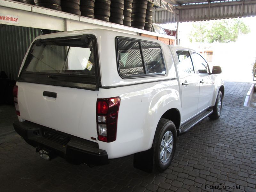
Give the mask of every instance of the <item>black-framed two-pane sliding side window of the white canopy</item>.
[{"label": "black-framed two-pane sliding side window of the white canopy", "polygon": [[165,74],[161,47],[157,43],[119,38],[117,52],[122,77]]}]

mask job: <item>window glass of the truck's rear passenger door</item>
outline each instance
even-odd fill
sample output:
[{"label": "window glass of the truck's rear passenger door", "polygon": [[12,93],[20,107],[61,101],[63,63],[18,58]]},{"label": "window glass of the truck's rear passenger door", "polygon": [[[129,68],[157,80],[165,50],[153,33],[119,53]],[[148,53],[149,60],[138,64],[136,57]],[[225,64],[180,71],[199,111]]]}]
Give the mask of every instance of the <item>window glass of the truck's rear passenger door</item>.
[{"label": "window glass of the truck's rear passenger door", "polygon": [[179,72],[182,74],[194,74],[194,67],[192,64],[192,60],[190,57],[190,54],[187,50],[178,50],[176,51],[178,60],[179,60],[179,64],[178,64],[178,68],[179,68]]}]

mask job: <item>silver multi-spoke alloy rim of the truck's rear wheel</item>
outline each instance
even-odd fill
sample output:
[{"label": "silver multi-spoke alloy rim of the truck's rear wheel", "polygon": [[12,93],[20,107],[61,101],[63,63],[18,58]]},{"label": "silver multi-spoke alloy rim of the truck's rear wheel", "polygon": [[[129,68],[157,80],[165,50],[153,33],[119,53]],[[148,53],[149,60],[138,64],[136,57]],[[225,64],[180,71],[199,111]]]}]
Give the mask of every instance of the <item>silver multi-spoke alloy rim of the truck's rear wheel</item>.
[{"label": "silver multi-spoke alloy rim of the truck's rear wheel", "polygon": [[164,136],[161,140],[159,157],[161,162],[165,163],[168,161],[172,154],[173,148],[173,135],[171,131],[164,133]]}]

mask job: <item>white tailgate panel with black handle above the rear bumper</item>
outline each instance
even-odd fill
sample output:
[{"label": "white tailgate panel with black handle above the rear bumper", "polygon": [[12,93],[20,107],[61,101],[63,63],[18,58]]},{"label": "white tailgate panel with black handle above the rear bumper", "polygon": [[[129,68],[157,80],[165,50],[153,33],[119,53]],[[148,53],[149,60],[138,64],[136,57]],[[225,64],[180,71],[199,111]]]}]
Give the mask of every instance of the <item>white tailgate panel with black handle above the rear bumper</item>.
[{"label": "white tailgate panel with black handle above the rear bumper", "polygon": [[[98,91],[26,82],[17,85],[22,119],[97,142],[91,138],[97,138]],[[56,98],[44,92],[56,93]]]}]

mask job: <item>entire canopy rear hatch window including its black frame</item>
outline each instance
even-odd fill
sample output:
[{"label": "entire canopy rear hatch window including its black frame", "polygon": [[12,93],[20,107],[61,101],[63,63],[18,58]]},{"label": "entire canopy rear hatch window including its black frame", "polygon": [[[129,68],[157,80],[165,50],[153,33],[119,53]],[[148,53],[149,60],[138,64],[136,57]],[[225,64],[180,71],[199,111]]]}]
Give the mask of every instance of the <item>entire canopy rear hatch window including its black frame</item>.
[{"label": "entire canopy rear hatch window including its black frame", "polygon": [[97,39],[93,35],[38,39],[18,81],[98,90]]}]

